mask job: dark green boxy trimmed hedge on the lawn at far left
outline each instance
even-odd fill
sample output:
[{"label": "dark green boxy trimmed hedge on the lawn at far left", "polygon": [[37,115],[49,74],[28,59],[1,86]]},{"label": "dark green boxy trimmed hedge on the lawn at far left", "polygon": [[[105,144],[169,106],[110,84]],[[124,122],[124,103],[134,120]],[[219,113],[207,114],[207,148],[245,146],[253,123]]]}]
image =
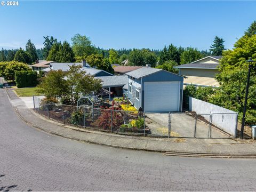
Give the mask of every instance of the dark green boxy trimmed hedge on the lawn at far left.
[{"label": "dark green boxy trimmed hedge on the lawn at far left", "polygon": [[16,71],[15,82],[18,88],[36,86],[38,83],[37,73],[36,71],[31,71],[31,70]]}]

